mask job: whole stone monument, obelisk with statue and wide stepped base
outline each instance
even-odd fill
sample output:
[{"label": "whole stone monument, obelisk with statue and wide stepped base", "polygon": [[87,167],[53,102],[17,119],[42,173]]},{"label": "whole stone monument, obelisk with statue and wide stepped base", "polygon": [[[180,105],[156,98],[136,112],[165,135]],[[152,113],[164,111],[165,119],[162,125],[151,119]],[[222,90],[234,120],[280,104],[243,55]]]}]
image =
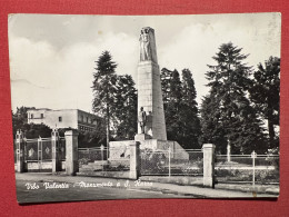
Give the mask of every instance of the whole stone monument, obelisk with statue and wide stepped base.
[{"label": "whole stone monument, obelisk with statue and wide stepped base", "polygon": [[150,27],[142,28],[139,41],[138,134],[134,136],[134,141],[110,141],[109,159],[129,159],[129,146],[136,141],[140,145],[140,149],[168,150],[170,148],[171,158],[188,159],[188,152],[177,141],[167,140],[155,30]]}]

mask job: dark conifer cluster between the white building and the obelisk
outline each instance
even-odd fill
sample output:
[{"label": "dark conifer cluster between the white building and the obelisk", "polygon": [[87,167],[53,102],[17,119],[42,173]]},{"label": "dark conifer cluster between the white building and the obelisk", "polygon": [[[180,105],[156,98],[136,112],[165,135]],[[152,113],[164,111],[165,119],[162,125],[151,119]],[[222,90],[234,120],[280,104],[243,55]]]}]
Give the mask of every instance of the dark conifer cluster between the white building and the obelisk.
[{"label": "dark conifer cluster between the white building and the obelisk", "polygon": [[92,109],[103,117],[107,126],[107,142],[113,138],[109,134],[114,129],[116,139],[132,139],[137,131],[137,90],[131,76],[117,76],[117,63],[108,51],[97,61],[92,86]]}]

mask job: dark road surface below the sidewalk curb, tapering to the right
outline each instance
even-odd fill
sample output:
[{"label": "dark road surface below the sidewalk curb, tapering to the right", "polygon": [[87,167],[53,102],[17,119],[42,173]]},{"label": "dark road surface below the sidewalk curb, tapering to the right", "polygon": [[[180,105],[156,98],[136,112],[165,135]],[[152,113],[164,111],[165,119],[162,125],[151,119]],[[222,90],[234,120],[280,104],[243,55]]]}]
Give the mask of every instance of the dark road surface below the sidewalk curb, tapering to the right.
[{"label": "dark road surface below the sidewalk curb, tapering to the right", "polygon": [[[38,189],[28,189],[29,184]],[[61,183],[56,183],[59,185]],[[63,184],[63,183],[62,183]],[[49,183],[53,185],[53,183]],[[129,199],[129,198],[173,198],[185,197],[172,194],[156,191],[143,191],[130,188],[117,187],[88,187],[81,188],[73,184],[66,184],[69,188],[46,189],[44,183],[17,180],[17,198],[21,204],[26,203],[47,203],[47,201],[72,201],[72,200],[98,200],[98,199]],[[191,196],[190,196],[191,198]]]}]

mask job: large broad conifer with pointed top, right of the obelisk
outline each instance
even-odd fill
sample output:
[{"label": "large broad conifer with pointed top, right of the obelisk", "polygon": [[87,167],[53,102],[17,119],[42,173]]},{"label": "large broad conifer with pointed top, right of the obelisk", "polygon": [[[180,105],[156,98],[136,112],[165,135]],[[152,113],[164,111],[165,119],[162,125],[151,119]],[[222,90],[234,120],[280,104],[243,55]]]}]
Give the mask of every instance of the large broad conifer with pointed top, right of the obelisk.
[{"label": "large broad conifer with pointed top, right of the obelisk", "polygon": [[219,150],[226,149],[226,139],[236,154],[265,151],[262,124],[247,98],[251,67],[243,63],[248,55],[241,50],[231,42],[223,43],[212,57],[217,65],[208,66],[210,92],[201,108],[202,139],[215,142]]}]

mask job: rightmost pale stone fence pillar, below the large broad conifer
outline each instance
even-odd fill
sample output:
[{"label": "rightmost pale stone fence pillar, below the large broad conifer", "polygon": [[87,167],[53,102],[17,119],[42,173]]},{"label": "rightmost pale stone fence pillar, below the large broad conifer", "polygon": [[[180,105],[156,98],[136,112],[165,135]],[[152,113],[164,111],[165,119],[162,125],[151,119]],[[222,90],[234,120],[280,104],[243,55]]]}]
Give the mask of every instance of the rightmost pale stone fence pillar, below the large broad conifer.
[{"label": "rightmost pale stone fence pillar, below the large broad conifer", "polygon": [[215,187],[215,148],[212,144],[203,144],[203,186]]}]

